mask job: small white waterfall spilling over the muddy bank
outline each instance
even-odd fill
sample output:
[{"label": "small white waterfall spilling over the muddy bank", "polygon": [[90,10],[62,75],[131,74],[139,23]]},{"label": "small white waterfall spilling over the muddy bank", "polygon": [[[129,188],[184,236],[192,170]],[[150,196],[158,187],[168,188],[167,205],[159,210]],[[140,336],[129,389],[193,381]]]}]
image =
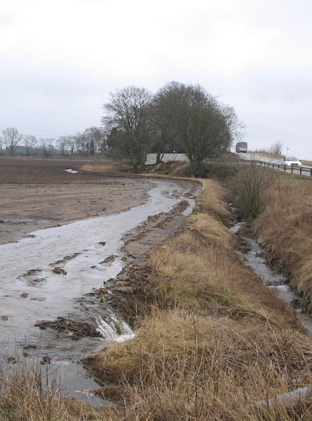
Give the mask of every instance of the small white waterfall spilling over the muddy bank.
[{"label": "small white waterfall spilling over the muddy bank", "polygon": [[95,316],[95,321],[97,323],[97,331],[105,339],[114,342],[125,342],[135,336],[135,333],[125,320],[119,319],[112,311],[110,311],[109,316],[105,320],[101,316]]}]

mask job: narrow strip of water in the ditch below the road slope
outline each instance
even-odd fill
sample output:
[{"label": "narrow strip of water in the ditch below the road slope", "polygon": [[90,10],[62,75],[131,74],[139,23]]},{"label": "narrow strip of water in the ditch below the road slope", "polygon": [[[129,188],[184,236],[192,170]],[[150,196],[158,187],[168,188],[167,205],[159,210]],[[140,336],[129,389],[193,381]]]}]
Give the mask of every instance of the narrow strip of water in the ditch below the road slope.
[{"label": "narrow strip of water in the ditch below the road slope", "polygon": [[[230,228],[230,231],[236,233],[243,225],[246,225],[246,222],[238,222]],[[246,241],[246,243],[250,244],[250,250],[247,253],[239,252],[239,254],[245,259],[246,263],[252,267],[254,272],[260,276],[265,285],[267,285],[268,288],[274,289],[283,300],[290,304],[292,304],[294,300],[300,299],[300,295],[287,285],[288,281],[285,276],[274,272],[267,265],[267,261],[261,256],[263,248],[256,242],[256,240],[245,236],[241,237],[244,241]],[[302,323],[307,328],[308,335],[312,337],[311,315],[304,313],[301,308],[296,308],[296,312]]]}]

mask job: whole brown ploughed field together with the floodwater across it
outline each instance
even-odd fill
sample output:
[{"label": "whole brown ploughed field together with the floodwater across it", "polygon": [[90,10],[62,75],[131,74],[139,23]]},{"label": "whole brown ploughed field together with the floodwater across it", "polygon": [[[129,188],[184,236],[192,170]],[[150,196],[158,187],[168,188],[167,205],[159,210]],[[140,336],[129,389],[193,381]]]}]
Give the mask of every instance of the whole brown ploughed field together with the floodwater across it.
[{"label": "whole brown ploughed field together with the floodwater across it", "polygon": [[99,161],[0,158],[0,361],[48,363],[64,393],[97,405],[77,362],[134,335],[125,278],[180,229],[199,186],[85,165]]}]

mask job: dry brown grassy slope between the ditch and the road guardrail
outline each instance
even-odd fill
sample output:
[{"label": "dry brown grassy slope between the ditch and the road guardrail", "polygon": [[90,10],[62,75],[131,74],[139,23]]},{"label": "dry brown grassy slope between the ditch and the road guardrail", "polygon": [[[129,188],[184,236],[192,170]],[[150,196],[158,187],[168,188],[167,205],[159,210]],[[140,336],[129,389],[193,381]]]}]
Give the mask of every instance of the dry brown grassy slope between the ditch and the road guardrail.
[{"label": "dry brown grassy slope between the ditch and the road guardrail", "polygon": [[252,222],[271,266],[289,277],[312,312],[312,180],[259,166],[229,183],[240,213]]}]

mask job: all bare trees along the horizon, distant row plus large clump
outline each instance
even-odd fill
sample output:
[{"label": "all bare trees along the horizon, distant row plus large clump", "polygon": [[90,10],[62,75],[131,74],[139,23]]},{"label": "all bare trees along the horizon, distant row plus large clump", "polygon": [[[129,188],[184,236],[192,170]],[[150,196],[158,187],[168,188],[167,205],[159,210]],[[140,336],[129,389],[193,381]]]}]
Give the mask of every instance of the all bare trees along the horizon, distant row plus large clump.
[{"label": "all bare trees along the horizon, distant row plus large clump", "polygon": [[0,137],[0,154],[107,154],[121,162],[128,158],[138,169],[148,152],[156,154],[157,163],[165,152],[183,152],[193,175],[200,176],[207,158],[229,151],[243,135],[234,109],[199,84],[169,82],[154,94],[127,86],[111,92],[102,110],[101,127],[57,139],[23,136],[8,127]]}]

